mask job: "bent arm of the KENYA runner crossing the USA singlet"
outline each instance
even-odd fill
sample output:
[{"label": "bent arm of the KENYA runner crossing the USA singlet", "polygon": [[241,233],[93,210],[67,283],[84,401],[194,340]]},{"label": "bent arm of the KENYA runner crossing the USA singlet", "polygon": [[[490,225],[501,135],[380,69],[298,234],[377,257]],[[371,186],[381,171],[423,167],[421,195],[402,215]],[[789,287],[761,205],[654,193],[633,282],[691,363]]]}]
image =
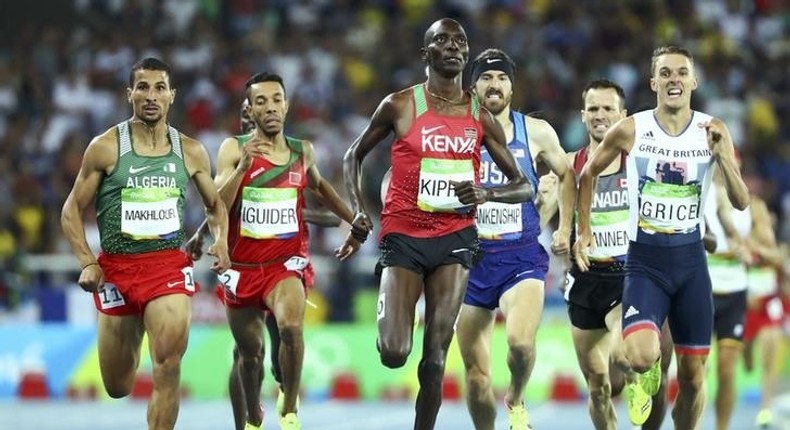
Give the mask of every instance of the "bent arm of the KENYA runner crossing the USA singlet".
[{"label": "bent arm of the KENYA runner crossing the USA singlet", "polygon": [[[484,188],[482,195],[477,196],[477,189],[471,184],[463,183],[464,188],[456,188],[456,195],[461,203],[485,203],[486,201],[502,203],[521,203],[534,197],[535,190],[532,189],[527,176],[521,170],[516,158],[507,147],[507,138],[499,121],[494,119],[484,107],[480,107],[480,120],[483,124],[483,145],[488,149],[491,159],[499,167],[499,170],[508,178],[504,185]],[[480,199],[482,197],[482,201]]]}]

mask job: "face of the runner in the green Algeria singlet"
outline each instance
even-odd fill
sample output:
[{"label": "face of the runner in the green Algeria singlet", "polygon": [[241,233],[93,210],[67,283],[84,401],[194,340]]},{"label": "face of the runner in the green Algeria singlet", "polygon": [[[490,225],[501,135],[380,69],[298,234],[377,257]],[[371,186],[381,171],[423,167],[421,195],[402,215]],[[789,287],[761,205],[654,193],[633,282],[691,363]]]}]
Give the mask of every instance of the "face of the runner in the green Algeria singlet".
[{"label": "face of the runner in the green Algeria singlet", "polygon": [[170,77],[163,70],[137,70],[134,84],[126,89],[134,117],[148,124],[167,118],[176,90],[170,88]]}]

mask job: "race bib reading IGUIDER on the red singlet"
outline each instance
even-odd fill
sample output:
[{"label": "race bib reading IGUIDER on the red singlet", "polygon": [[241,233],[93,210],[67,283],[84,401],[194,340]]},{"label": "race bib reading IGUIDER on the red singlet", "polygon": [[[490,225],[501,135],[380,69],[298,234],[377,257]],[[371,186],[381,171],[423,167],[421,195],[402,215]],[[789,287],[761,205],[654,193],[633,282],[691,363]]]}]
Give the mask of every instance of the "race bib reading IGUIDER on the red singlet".
[{"label": "race bib reading IGUIDER on the red singlet", "polygon": [[244,187],[241,235],[253,239],[289,239],[299,231],[296,188]]}]

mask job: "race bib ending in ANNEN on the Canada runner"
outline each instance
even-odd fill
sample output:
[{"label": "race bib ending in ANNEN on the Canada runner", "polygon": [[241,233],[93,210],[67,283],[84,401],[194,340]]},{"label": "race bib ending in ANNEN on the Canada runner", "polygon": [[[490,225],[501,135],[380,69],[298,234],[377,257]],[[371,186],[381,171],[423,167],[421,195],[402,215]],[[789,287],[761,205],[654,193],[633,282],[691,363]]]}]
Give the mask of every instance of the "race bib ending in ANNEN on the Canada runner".
[{"label": "race bib ending in ANNEN on the Canada runner", "polygon": [[[590,229],[595,247],[588,257],[594,261],[611,261],[628,252],[628,210],[592,212]],[[578,227],[577,230],[578,231]]]}]

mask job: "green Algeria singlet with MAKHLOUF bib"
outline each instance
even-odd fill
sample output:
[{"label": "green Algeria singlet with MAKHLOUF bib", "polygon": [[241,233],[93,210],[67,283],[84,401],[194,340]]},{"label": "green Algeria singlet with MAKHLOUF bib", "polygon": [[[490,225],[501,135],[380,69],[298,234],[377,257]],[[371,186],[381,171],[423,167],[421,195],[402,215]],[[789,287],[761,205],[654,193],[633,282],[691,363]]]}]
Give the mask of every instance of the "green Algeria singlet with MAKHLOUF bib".
[{"label": "green Algeria singlet with MAKHLOUF bib", "polygon": [[110,254],[178,249],[184,241],[184,196],[189,172],[181,135],[168,127],[171,150],[161,156],[134,151],[131,125],[116,126],[118,161],[96,194],[101,247]]}]

